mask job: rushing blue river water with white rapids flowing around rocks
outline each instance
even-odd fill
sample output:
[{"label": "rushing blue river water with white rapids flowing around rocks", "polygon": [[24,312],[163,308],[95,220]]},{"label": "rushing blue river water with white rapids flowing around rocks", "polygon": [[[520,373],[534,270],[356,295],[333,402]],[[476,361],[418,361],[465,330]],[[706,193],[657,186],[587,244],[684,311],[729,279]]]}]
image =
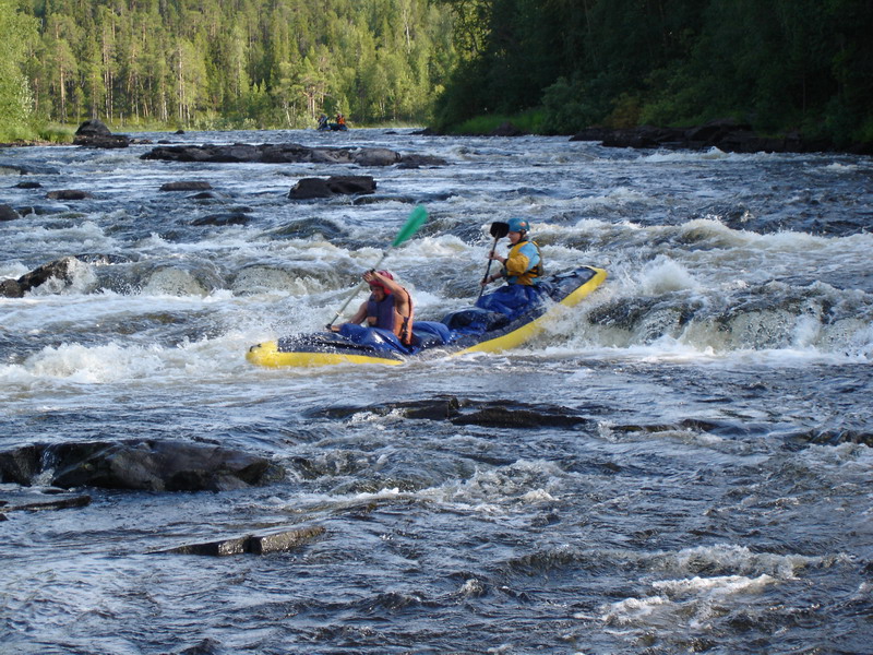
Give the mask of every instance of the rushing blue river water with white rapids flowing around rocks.
[{"label": "rushing blue river water with white rapids flowing around rocks", "polygon": [[[286,471],[10,513],[0,652],[873,653],[870,158],[407,130],[168,139],[447,164],[0,152],[0,202],[35,210],[0,223],[0,278],[80,262],[72,285],[0,298],[0,450],[181,439]],[[376,194],[287,198],[327,175],[372,175]],[[213,195],[159,190],[179,180]],[[475,297],[489,225],[514,215],[550,271],[602,266],[607,284],[517,352],[246,361],[330,320],[415,203],[430,219],[385,264],[421,318]],[[246,219],[203,224],[228,213]],[[541,420],[406,410],[450,402]],[[154,552],[297,525],[325,532],[280,555]]]}]

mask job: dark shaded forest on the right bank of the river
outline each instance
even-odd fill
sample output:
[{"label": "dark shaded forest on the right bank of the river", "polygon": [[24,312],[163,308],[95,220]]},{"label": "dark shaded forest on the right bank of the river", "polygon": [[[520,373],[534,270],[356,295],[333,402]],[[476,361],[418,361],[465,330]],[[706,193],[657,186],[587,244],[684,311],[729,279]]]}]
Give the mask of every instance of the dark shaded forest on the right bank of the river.
[{"label": "dark shaded forest on the right bank of the river", "polygon": [[870,0],[443,0],[461,63],[435,127],[683,127],[873,142]]}]

